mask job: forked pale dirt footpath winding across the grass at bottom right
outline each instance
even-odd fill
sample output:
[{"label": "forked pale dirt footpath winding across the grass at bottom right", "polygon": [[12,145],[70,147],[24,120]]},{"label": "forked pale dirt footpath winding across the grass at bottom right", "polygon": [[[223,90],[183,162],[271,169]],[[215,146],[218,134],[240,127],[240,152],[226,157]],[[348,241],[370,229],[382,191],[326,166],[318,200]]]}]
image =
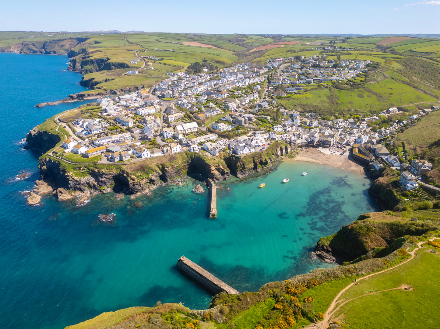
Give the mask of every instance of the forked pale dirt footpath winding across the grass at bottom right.
[{"label": "forked pale dirt footpath winding across the grass at bottom right", "polygon": [[[429,240],[427,240],[427,241],[433,241],[433,240],[435,240],[435,239],[438,239],[438,238],[429,239]],[[308,326],[305,327],[305,328],[309,328],[309,329],[312,329],[312,328],[316,328],[316,329],[318,329],[318,328],[319,328],[319,329],[328,328],[328,326],[330,325],[330,322],[331,322],[331,320],[333,319],[333,316],[334,316],[334,314],[336,313],[336,311],[337,311],[342,305],[344,305],[345,303],[348,303],[350,300],[354,300],[354,299],[359,298],[359,297],[362,297],[362,296],[371,295],[371,294],[373,294],[373,293],[381,293],[381,292],[383,292],[383,291],[388,291],[388,290],[393,290],[393,289],[405,289],[407,286],[404,286],[404,287],[403,287],[403,286],[400,286],[400,287],[397,287],[397,288],[386,289],[386,290],[381,290],[381,291],[375,291],[375,292],[368,293],[368,294],[365,294],[365,295],[362,295],[362,296],[357,296],[357,297],[352,298],[352,299],[350,299],[350,300],[346,300],[346,301],[344,301],[342,304],[339,304],[339,303],[341,303],[342,300],[339,300],[339,301],[338,301],[338,299],[342,296],[343,293],[345,293],[345,292],[346,292],[350,287],[352,287],[353,285],[359,283],[359,281],[364,280],[364,279],[367,279],[367,278],[370,278],[371,276],[374,276],[374,275],[378,275],[378,274],[381,274],[381,273],[384,273],[384,272],[390,271],[390,270],[392,270],[392,269],[394,269],[394,268],[397,268],[397,267],[399,267],[399,266],[401,266],[401,265],[403,265],[403,264],[409,262],[410,260],[412,260],[412,259],[415,257],[415,253],[416,253],[416,251],[419,250],[419,249],[422,249],[422,248],[423,248],[423,247],[422,247],[422,244],[425,243],[425,242],[426,242],[426,241],[419,242],[419,243],[417,244],[417,248],[414,248],[414,250],[411,251],[411,252],[409,253],[409,254],[411,255],[411,257],[408,258],[407,260],[403,261],[402,263],[399,263],[399,264],[397,264],[397,265],[395,265],[395,266],[393,266],[393,267],[391,267],[391,268],[386,268],[385,270],[382,270],[382,271],[379,271],[379,272],[375,272],[375,273],[371,273],[371,274],[369,274],[369,275],[365,275],[365,276],[363,276],[363,277],[361,277],[361,278],[358,278],[356,281],[353,281],[352,283],[350,283],[348,286],[346,286],[344,289],[342,289],[342,290],[337,294],[336,297],[334,297],[334,300],[331,302],[329,308],[327,308],[327,310],[326,310],[326,312],[325,312],[325,314],[324,314],[324,319],[323,319],[322,321],[316,323],[316,324],[308,325]],[[339,304],[339,305],[337,305],[337,304]]]}]

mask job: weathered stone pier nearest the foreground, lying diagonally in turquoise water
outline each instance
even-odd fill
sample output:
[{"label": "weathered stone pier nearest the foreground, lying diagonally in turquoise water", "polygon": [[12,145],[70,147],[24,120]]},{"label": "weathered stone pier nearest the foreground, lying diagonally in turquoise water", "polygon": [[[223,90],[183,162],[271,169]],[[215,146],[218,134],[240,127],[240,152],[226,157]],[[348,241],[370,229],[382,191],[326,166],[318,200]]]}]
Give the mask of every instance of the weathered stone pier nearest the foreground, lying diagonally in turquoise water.
[{"label": "weathered stone pier nearest the foreground, lying diagonally in turquoise water", "polygon": [[179,260],[177,260],[177,268],[196,280],[198,283],[205,286],[205,288],[209,289],[213,293],[217,294],[225,292],[228,294],[238,295],[237,290],[231,286],[228,286],[226,283],[216,278],[214,275],[201,268],[185,256],[182,256],[179,258]]}]

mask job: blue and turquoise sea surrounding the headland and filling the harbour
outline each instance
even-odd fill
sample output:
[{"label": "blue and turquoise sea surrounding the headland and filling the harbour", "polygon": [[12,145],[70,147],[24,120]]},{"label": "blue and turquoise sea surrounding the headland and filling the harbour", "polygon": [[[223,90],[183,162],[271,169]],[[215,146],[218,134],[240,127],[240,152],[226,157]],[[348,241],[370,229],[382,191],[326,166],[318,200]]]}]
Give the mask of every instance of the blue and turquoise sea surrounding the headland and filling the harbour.
[{"label": "blue and turquoise sea surrounding the headland and filling the harbour", "polygon": [[[33,189],[38,162],[20,140],[44,119],[82,104],[34,107],[84,90],[77,84],[80,75],[62,72],[67,60],[0,54],[0,113],[6,119],[0,172],[2,327],[64,328],[158,300],[206,308],[212,295],[179,274],[180,256],[239,291],[255,291],[266,282],[328,266],[308,257],[319,237],[375,210],[363,175],[298,161],[221,184],[215,220],[206,217],[207,193],[191,192],[199,182],[190,178],[135,200],[107,194],[76,206],[50,197],[41,206],[27,206],[20,191]],[[16,180],[20,170],[31,176]],[[290,182],[282,184],[285,177]],[[258,188],[261,182],[266,187]],[[99,221],[103,213],[116,213],[116,221]]]}]

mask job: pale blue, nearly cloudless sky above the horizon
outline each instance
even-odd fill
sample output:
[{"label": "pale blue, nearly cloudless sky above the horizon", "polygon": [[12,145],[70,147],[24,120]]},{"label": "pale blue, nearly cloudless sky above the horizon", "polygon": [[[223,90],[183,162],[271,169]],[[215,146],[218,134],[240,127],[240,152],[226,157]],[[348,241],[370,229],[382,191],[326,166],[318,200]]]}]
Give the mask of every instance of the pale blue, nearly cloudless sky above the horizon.
[{"label": "pale blue, nearly cloudless sky above the horizon", "polygon": [[440,0],[5,1],[3,31],[440,34]]}]

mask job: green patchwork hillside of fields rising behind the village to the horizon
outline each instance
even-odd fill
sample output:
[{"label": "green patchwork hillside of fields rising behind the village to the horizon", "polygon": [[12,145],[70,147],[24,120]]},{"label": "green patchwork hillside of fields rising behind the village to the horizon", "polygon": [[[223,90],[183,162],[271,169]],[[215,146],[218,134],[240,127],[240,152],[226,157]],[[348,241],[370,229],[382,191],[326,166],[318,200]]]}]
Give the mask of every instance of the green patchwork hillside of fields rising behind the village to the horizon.
[{"label": "green patchwork hillside of fields rising behind the village to the horizon", "polygon": [[[337,51],[322,49],[330,43],[339,47]],[[336,63],[369,60],[369,72],[309,85],[302,94],[278,98],[279,105],[322,115],[373,114],[394,106],[411,112],[437,105],[440,99],[440,40],[427,37],[4,32],[1,51],[68,54],[70,69],[84,74],[81,84],[103,91],[150,87],[166,73],[194,62],[205,61],[216,70],[249,61],[264,64],[276,57],[325,54],[327,61]],[[139,74],[125,75],[130,69]]]}]

